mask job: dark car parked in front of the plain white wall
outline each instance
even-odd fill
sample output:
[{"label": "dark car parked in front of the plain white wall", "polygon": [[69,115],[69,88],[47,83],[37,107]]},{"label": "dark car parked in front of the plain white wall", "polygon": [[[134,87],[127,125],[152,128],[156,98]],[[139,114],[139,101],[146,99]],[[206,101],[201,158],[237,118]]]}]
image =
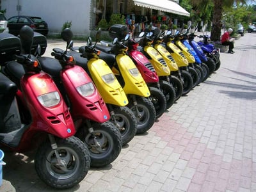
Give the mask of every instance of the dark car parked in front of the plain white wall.
[{"label": "dark car parked in front of the plain white wall", "polygon": [[19,35],[22,26],[30,26],[42,35],[48,34],[48,25],[41,17],[17,15],[8,19],[9,33]]}]

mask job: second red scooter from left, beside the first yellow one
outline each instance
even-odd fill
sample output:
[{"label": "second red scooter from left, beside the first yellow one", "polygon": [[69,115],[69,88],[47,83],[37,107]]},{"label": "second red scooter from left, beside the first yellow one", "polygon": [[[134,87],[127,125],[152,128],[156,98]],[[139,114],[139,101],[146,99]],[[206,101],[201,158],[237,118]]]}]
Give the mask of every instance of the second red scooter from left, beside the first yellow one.
[{"label": "second red scooter from left, beside the first yellow one", "polygon": [[[72,46],[70,32],[64,30],[61,33],[67,42],[67,49]],[[108,121],[108,108],[92,79],[82,67],[75,65],[67,49],[54,48],[52,56],[55,58],[37,56],[37,60],[67,99],[77,130],[76,136],[90,150],[91,166],[106,166],[120,154],[122,136],[118,128]]]}]

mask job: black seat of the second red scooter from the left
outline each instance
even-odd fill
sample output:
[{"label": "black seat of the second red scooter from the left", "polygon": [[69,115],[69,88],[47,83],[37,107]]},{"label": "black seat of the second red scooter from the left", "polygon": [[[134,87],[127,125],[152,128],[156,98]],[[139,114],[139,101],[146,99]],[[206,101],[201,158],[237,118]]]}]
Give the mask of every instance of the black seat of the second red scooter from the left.
[{"label": "black seat of the second red scooter from the left", "polygon": [[62,70],[62,67],[58,60],[40,56],[37,58],[37,60],[39,61],[44,72],[51,75],[53,79],[60,78],[60,71]]}]

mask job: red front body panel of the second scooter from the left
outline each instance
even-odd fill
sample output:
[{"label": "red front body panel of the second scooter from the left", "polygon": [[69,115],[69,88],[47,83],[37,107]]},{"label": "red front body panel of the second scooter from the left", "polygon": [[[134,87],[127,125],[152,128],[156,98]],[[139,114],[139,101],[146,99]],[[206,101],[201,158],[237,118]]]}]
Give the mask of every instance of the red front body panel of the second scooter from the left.
[{"label": "red front body panel of the second scooter from the left", "polygon": [[[106,103],[83,68],[75,65],[61,71],[62,83],[72,103],[72,117],[88,118],[95,122],[106,122],[110,115]],[[81,95],[77,88],[90,87],[90,95]],[[89,94],[89,93],[88,93]]]}]

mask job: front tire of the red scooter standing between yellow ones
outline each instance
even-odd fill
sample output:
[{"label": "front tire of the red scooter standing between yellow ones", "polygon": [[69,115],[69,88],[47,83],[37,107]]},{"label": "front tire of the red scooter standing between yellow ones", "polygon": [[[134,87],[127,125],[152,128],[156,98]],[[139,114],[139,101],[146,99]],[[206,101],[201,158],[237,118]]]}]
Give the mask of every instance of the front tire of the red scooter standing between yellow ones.
[{"label": "front tire of the red scooter standing between yellow ones", "polygon": [[154,108],[156,110],[156,118],[159,118],[166,111],[166,99],[164,93],[161,92],[158,88],[148,87],[150,90],[150,98],[152,103],[154,104]]}]

